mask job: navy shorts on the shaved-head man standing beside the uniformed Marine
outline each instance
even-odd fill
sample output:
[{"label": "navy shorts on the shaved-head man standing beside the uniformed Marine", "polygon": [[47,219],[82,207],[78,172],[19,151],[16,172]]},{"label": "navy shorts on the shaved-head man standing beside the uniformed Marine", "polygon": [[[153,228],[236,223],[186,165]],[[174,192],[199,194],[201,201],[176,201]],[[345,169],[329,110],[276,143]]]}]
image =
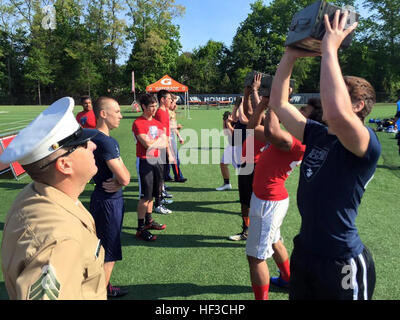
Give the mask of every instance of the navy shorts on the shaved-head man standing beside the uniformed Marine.
[{"label": "navy shorts on the shaved-head man standing beside the uniformed Marine", "polygon": [[97,237],[105,250],[105,262],[122,260],[121,231],[124,219],[124,198],[104,198],[92,193],[90,213],[96,224]]}]

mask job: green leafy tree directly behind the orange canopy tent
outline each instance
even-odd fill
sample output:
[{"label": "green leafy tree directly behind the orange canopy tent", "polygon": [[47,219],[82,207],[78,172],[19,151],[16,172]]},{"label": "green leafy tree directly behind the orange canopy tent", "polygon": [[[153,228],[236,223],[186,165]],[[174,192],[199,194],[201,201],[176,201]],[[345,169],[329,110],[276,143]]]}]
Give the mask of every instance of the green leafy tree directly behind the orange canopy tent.
[{"label": "green leafy tree directly behind the orange canopy tent", "polygon": [[181,44],[179,28],[173,17],[184,13],[175,0],[126,0],[129,8],[128,39],[132,52],[125,67],[125,83],[135,71],[136,87],[143,91],[147,85],[165,74],[175,75]]}]

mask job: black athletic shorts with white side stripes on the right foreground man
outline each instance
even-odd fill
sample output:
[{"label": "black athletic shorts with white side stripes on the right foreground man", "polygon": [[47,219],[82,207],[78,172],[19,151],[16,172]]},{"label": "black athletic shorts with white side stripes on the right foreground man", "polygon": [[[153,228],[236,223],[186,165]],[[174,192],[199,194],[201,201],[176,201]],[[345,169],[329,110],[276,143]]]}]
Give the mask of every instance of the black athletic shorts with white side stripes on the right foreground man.
[{"label": "black athletic shorts with white side stripes on the right foreground man", "polygon": [[306,253],[298,236],[290,257],[290,300],[371,300],[375,265],[367,247],[350,259]]}]

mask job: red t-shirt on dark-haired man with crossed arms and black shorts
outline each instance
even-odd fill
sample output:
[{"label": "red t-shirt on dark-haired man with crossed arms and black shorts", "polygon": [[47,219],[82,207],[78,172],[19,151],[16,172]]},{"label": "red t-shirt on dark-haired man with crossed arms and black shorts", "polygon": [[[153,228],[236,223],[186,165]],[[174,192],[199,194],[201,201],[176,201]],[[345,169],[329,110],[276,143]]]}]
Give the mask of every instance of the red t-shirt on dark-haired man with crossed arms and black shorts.
[{"label": "red t-shirt on dark-haired man with crossed arms and black shorts", "polygon": [[147,153],[147,149],[136,138],[140,134],[147,135],[151,140],[156,140],[159,138],[164,132],[164,127],[159,121],[155,120],[154,118],[147,120],[141,116],[133,122],[132,132],[136,141],[136,156],[138,158],[147,159],[157,158],[159,156],[158,149],[151,149]]}]

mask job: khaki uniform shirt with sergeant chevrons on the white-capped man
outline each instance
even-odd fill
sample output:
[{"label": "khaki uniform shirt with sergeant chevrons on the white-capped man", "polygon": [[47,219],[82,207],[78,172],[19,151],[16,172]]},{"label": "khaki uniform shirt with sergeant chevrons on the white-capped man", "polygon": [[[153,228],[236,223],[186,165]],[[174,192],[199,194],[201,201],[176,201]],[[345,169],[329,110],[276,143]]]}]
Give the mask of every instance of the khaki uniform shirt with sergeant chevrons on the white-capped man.
[{"label": "khaki uniform shirt with sergeant chevrons on the white-capped man", "polygon": [[4,226],[2,270],[10,299],[106,299],[104,249],[80,201],[45,184],[18,195]]}]

